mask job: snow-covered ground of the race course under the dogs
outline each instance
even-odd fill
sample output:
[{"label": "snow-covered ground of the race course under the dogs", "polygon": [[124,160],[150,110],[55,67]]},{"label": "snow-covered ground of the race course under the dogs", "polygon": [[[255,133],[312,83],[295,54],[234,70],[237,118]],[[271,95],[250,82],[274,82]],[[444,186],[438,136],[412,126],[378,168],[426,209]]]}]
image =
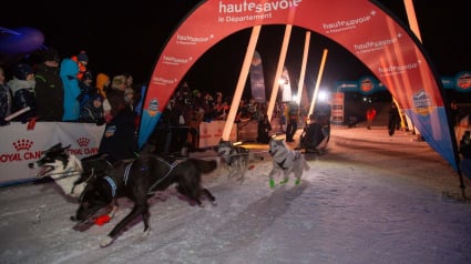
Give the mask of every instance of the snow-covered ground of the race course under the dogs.
[{"label": "snow-covered ground of the race course under the dogs", "polygon": [[78,232],[69,220],[76,204],[54,183],[0,189],[0,263],[469,264],[471,203],[451,166],[413,139],[334,126],[328,152],[306,156],[301,184],[275,190],[268,154],[252,150],[266,159],[252,162],[243,184],[225,169],[204,177],[215,205],[191,206],[171,189],[151,199],[147,237],[137,223],[104,248],[127,200],[110,223]]}]

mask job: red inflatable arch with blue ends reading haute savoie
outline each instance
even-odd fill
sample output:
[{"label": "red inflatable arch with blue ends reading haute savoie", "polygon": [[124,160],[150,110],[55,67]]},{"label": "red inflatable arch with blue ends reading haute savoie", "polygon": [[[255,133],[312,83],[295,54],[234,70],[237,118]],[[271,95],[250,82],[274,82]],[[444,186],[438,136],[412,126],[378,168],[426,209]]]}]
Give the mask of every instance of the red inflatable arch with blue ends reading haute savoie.
[{"label": "red inflatable arch with blue ends reading haute savoie", "polygon": [[143,104],[140,145],[192,65],[224,38],[254,26],[291,24],[350,51],[382,82],[424,140],[459,172],[440,79],[417,38],[368,0],[207,0],[175,30],[153,70]]}]

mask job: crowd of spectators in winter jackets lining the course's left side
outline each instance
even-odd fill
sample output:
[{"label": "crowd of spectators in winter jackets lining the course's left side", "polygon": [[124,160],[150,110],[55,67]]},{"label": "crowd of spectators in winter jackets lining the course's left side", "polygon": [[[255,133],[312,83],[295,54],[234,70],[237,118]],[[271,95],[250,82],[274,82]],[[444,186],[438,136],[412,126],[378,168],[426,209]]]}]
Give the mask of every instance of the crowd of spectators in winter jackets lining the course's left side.
[{"label": "crowd of spectators in winter jackets lining the course's left side", "polygon": [[[32,120],[105,125],[99,152],[113,155],[113,160],[133,159],[139,152],[137,128],[144,92],[145,85],[135,85],[126,72],[110,75],[90,71],[85,51],[61,58],[58,50],[50,48],[42,51],[39,63],[22,61],[8,69],[0,65],[0,125]],[[222,91],[212,94],[181,83],[154,130],[154,152],[185,154],[182,150],[197,150],[201,122],[226,120],[229,100]],[[9,119],[25,108],[29,111]],[[275,105],[273,118],[281,116],[281,125],[289,121],[285,111],[285,103]],[[267,142],[270,128],[266,103],[242,99],[235,122],[250,120],[263,128],[259,142]]]}]

